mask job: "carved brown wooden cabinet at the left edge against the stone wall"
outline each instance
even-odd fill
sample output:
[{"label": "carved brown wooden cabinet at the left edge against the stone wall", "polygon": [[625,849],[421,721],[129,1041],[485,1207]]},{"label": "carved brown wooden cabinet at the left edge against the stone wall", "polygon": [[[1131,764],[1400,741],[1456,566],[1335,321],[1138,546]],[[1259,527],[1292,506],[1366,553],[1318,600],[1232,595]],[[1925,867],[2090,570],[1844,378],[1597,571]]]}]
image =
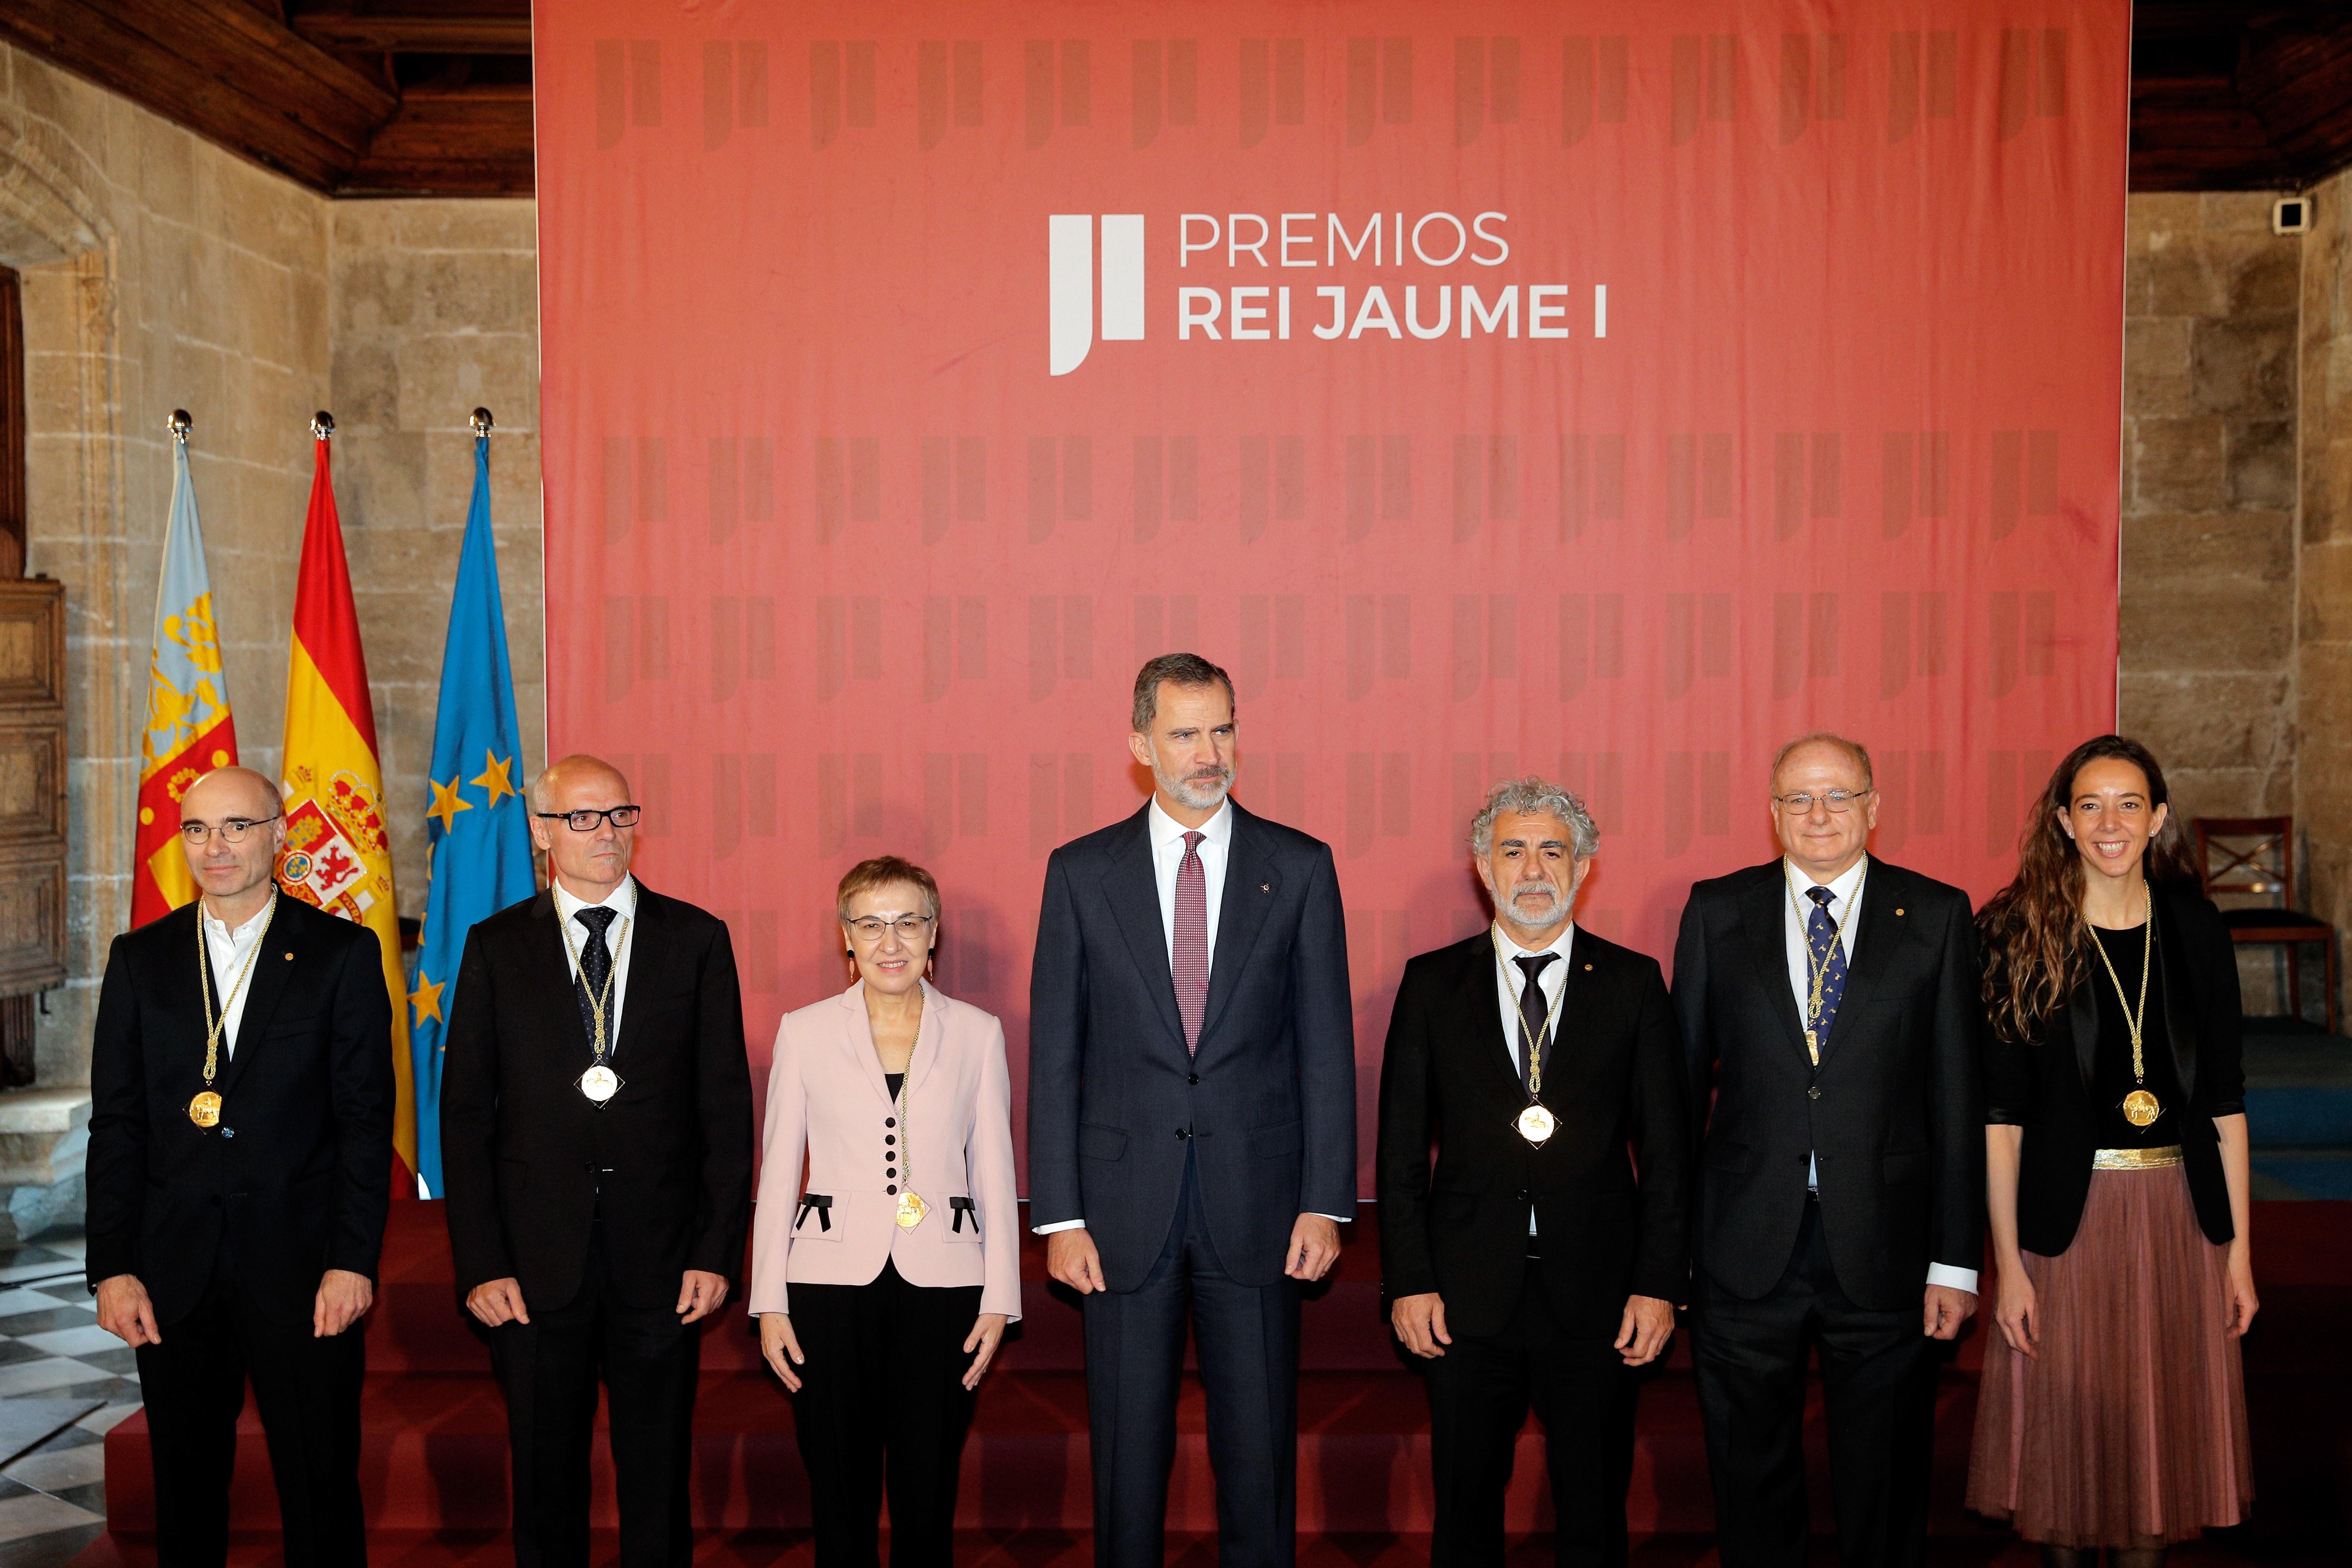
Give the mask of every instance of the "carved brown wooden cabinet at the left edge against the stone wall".
[{"label": "carved brown wooden cabinet at the left edge against the stone wall", "polygon": [[66,585],[0,578],[0,1086],[33,1081],[33,997],[66,980]]}]

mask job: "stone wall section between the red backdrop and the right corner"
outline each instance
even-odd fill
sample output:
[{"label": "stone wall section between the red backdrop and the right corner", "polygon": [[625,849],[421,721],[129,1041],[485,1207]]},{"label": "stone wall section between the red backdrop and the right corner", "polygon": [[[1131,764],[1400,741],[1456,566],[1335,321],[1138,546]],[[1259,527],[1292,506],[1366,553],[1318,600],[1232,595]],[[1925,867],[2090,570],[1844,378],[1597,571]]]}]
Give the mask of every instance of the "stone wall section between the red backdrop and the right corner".
[{"label": "stone wall section between the red backdrop and the right corner", "polygon": [[2124,270],[2124,733],[2176,811],[2296,795],[2296,289],[2267,193],[2136,195]]}]

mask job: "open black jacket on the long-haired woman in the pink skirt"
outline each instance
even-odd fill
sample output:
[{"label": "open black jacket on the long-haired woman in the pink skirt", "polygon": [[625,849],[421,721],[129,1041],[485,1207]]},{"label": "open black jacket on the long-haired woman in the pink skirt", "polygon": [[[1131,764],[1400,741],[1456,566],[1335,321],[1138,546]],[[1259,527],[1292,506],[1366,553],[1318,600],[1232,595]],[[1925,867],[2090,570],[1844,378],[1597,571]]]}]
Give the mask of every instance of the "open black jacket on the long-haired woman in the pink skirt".
[{"label": "open black jacket on the long-haired woman in the pink skirt", "polygon": [[[1867,900],[1865,900],[1867,907]],[[2098,992],[2105,971],[2091,966],[2042,1041],[2004,1044],[1987,1030],[1985,1121],[2025,1128],[2018,1166],[2018,1246],[2056,1258],[2074,1244],[2082,1204],[2091,1192],[2091,1152],[2100,1147],[2100,1107],[2091,1100],[2098,1060]],[[2230,1187],[2220,1171],[2213,1117],[2246,1110],[2241,1060],[2244,1020],[2237,994],[2237,952],[2220,910],[2194,889],[2157,893],[2157,973],[2164,1034],[2187,1105],[2180,1124],[2180,1164],[2187,1166],[2197,1225],[2213,1244],[2230,1241]]]}]

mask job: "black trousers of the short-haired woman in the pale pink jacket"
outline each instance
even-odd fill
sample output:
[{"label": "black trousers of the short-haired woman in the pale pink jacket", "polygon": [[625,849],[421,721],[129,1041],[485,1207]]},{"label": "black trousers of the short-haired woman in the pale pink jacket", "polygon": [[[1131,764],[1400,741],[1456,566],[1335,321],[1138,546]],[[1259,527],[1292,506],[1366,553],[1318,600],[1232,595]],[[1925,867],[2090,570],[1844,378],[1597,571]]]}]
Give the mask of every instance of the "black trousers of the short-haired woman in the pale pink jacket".
[{"label": "black trousers of the short-haired woman in the pale pink jacket", "polygon": [[877,1568],[889,1479],[891,1568],[955,1561],[955,1472],[971,1429],[964,1340],[981,1286],[913,1286],[894,1262],[866,1286],[793,1286],[807,1361],[793,1394],[809,1467],[816,1568]]}]

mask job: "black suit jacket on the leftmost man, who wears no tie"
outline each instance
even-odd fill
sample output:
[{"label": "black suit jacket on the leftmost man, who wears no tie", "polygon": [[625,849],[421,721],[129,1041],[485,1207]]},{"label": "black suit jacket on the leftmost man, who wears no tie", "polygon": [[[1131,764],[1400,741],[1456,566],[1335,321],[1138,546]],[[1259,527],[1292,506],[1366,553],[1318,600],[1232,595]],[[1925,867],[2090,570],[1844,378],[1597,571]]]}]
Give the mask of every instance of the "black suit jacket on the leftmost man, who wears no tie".
[{"label": "black suit jacket on the leftmost man, who wears no tie", "polygon": [[[115,938],[89,1051],[89,1288],[136,1274],[158,1326],[221,1248],[259,1309],[306,1321],[327,1269],[376,1276],[393,1199],[393,999],[376,933],[278,900],[254,954],[221,1124],[205,1086],[198,905]],[[233,983],[235,976],[228,976]],[[219,978],[214,1006],[219,1006]]]}]

